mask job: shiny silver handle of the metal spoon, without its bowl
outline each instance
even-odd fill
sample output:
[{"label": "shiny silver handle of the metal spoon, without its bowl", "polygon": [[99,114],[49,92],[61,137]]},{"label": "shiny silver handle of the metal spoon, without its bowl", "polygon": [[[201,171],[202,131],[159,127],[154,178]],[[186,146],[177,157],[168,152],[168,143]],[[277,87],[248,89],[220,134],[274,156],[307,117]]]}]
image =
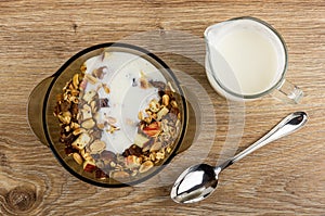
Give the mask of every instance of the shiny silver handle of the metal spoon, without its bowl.
[{"label": "shiny silver handle of the metal spoon, without its bowl", "polygon": [[287,135],[290,135],[295,131],[297,131],[300,127],[302,127],[306,122],[308,120],[308,116],[304,112],[296,112],[287,117],[285,117],[281,123],[278,123],[270,132],[268,132],[265,136],[263,136],[261,139],[256,141],[253,144],[248,147],[246,150],[239,152],[229,161],[221,164],[219,167],[224,169],[225,167],[234,164],[235,162],[242,160],[243,157],[247,156],[251,152],[260,149],[261,147],[264,147],[265,144],[277,140],[282,137],[285,137]]}]

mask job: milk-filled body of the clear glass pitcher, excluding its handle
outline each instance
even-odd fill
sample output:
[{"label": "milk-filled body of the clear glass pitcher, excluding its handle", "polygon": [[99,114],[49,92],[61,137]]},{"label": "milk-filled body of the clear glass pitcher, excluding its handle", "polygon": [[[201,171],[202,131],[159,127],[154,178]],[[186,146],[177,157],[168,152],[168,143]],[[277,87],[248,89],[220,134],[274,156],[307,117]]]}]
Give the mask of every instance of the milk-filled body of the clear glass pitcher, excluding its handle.
[{"label": "milk-filled body of the clear glass pitcher, excluding its handle", "polygon": [[229,21],[210,26],[205,37],[208,78],[217,91],[256,96],[281,79],[286,53],[276,34],[263,24]]}]

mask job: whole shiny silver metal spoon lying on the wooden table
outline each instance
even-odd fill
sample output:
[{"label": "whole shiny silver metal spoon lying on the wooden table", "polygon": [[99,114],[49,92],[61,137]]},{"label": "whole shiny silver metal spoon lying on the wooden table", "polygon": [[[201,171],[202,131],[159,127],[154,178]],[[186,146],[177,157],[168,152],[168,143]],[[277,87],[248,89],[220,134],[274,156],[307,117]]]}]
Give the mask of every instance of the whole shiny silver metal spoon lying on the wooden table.
[{"label": "whole shiny silver metal spoon lying on the wooden table", "polygon": [[191,166],[184,170],[174,182],[170,196],[177,203],[195,203],[206,199],[217,188],[218,175],[230,165],[242,160],[255,150],[274,141],[302,127],[308,119],[304,112],[296,112],[285,117],[264,137],[256,141],[243,152],[229,158],[221,165],[212,167],[207,164]]}]

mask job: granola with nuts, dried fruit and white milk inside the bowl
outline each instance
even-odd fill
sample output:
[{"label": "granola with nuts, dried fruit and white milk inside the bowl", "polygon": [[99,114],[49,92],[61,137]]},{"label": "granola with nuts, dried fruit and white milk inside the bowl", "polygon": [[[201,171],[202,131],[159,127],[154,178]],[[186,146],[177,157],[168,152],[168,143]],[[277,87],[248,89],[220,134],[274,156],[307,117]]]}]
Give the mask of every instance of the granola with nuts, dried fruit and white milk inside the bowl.
[{"label": "granola with nuts, dried fruit and white milk inside the bowl", "polygon": [[57,144],[82,174],[99,181],[136,181],[179,144],[180,98],[148,61],[104,51],[86,60],[56,96]]}]

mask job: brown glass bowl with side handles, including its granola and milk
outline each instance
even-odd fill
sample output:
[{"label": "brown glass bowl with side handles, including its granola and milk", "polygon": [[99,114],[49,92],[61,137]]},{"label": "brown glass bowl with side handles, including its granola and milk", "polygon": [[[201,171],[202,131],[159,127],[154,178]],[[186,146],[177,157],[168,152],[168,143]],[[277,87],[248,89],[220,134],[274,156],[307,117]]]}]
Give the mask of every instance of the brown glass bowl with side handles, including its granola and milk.
[{"label": "brown glass bowl with side handles, including its granola and milk", "polygon": [[74,176],[125,187],[153,177],[188,148],[188,109],[159,58],[132,45],[102,43],[72,56],[32,90],[28,122]]}]

